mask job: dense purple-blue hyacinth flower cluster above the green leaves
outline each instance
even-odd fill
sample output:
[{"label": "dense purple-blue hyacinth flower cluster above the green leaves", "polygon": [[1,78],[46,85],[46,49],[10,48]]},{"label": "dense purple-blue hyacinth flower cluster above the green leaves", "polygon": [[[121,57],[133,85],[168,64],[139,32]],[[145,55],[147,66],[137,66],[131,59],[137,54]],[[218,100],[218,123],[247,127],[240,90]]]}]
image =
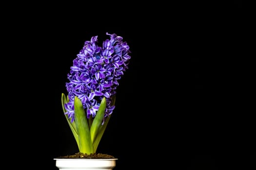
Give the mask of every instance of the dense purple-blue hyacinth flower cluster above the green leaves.
[{"label": "dense purple-blue hyacinth flower cluster above the green leaves", "polygon": [[[75,119],[75,96],[82,102],[87,118],[94,118],[103,97],[106,98],[104,118],[112,114],[113,96],[116,94],[118,80],[127,69],[130,60],[129,46],[123,42],[121,36],[108,34],[110,39],[98,46],[98,36],[93,36],[90,41],[85,41],[77,58],[73,60],[66,83],[69,101],[64,104],[65,114]],[[103,122],[104,123],[104,119]]]}]

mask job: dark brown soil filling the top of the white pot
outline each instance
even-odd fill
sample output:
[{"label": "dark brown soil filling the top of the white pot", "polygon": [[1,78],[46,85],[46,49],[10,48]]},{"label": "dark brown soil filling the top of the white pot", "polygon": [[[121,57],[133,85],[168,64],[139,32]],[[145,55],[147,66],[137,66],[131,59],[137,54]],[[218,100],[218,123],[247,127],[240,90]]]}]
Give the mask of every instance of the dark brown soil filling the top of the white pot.
[{"label": "dark brown soil filling the top of the white pot", "polygon": [[109,154],[104,154],[104,153],[91,153],[91,154],[75,153],[75,154],[66,155],[66,156],[59,156],[57,158],[105,159],[105,158],[115,158],[115,157]]}]

